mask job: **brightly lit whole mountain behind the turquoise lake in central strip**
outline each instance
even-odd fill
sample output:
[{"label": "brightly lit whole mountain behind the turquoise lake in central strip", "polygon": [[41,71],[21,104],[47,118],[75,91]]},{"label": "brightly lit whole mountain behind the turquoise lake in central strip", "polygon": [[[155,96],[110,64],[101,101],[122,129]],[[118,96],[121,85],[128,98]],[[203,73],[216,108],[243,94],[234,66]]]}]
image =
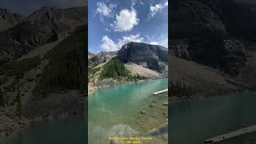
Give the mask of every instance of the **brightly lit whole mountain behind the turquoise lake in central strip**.
[{"label": "brightly lit whole mountain behind the turquoise lake in central strip", "polygon": [[166,77],[167,49],[142,42],[128,42],[118,51],[89,55],[89,91],[98,86]]}]

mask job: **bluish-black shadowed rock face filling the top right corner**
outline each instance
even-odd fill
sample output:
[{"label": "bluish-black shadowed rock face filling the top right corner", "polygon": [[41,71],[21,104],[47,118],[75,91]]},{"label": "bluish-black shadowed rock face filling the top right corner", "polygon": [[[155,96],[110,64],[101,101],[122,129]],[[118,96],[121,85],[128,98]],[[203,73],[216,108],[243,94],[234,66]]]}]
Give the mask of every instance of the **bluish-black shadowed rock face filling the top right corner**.
[{"label": "bluish-black shadowed rock face filling the top right corner", "polygon": [[256,33],[256,5],[254,1],[200,0],[210,6],[226,26],[231,36],[254,39]]}]

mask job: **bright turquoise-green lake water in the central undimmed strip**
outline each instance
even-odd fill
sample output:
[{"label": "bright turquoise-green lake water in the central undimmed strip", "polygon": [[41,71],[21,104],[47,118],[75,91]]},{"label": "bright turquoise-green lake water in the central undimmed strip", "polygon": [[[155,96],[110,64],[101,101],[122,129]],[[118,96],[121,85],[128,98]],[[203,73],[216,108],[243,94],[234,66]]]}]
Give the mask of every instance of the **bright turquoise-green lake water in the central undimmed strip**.
[{"label": "bright turquoise-green lake water in the central undimmed strip", "polygon": [[[108,138],[108,134],[118,136],[121,133],[146,132],[154,126],[159,126],[161,122],[165,123],[168,106],[165,106],[165,109],[160,102],[167,102],[167,93],[165,96],[161,94],[154,96],[153,93],[167,87],[167,78],[162,78],[110,86],[90,94],[88,98],[89,141],[97,143],[96,138]],[[151,102],[154,102],[154,108],[150,108]],[[146,114],[141,114],[142,110],[146,110]],[[163,114],[156,116],[161,114],[160,110],[162,113],[166,112],[166,117]]]}]

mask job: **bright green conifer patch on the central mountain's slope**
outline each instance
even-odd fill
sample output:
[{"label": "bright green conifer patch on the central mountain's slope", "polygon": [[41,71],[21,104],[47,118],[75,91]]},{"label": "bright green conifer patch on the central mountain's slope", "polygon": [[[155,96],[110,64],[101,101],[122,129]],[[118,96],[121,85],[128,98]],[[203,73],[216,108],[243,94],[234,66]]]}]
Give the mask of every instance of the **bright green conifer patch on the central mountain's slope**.
[{"label": "bright green conifer patch on the central mountain's slope", "polygon": [[117,78],[117,77],[129,77],[130,72],[126,70],[124,64],[118,59],[112,59],[107,62],[103,67],[101,79],[104,78]]}]

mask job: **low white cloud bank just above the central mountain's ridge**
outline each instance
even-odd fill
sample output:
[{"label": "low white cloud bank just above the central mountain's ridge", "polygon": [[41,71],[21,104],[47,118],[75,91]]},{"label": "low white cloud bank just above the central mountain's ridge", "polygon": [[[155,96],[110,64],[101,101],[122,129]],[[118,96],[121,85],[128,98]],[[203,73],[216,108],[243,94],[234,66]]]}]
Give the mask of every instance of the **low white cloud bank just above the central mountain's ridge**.
[{"label": "low white cloud bank just above the central mountain's ridge", "polygon": [[110,39],[107,35],[102,37],[102,45],[101,48],[104,51],[116,51],[120,50],[122,45],[126,44],[127,42],[143,42],[144,38],[140,36],[140,34],[130,34],[128,36],[124,36],[119,38],[117,42],[114,42]]}]

